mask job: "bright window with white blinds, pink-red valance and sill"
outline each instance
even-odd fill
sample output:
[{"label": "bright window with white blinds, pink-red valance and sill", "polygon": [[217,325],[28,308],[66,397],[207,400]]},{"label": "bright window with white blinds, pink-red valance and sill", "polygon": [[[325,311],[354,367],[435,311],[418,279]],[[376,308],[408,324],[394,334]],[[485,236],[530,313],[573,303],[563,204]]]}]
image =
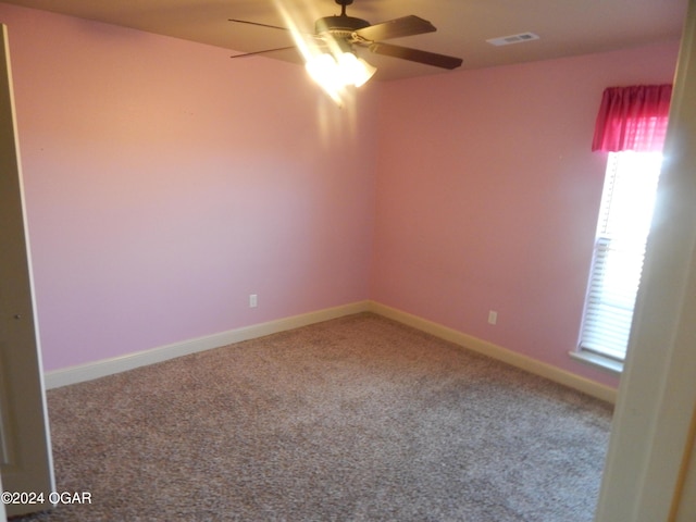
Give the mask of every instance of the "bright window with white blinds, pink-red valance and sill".
[{"label": "bright window with white blinds, pink-red valance and sill", "polygon": [[592,150],[609,152],[577,350],[623,369],[667,134],[671,85],[605,89]]}]

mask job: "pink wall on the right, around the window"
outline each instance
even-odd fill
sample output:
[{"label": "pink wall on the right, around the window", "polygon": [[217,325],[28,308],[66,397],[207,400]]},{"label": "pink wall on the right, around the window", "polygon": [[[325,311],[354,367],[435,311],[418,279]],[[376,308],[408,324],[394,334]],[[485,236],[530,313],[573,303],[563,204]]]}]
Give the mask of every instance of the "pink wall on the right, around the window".
[{"label": "pink wall on the right, around the window", "polygon": [[671,82],[678,48],[383,86],[372,298],[616,385],[568,357],[606,165],[594,120],[606,87]]}]

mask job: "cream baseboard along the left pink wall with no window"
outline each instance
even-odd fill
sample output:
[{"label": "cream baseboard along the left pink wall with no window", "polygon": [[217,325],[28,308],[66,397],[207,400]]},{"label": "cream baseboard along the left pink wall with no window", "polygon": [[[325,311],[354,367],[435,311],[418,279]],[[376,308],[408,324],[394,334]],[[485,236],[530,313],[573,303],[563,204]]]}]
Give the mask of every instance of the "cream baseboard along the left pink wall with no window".
[{"label": "cream baseboard along the left pink wall with no window", "polygon": [[266,323],[229,330],[227,332],[188,339],[182,343],[174,343],[172,345],[128,353],[121,357],[88,362],[86,364],[79,364],[64,370],[54,370],[45,374],[46,387],[51,389],[67,386],[70,384],[91,381],[94,378],[112,375],[114,373],[121,373],[139,366],[166,361],[176,357],[210,350],[212,348],[219,348],[221,346],[239,343],[241,340],[285,332],[287,330],[299,328],[301,326],[341,318],[344,315],[364,312],[368,311],[368,309],[369,301],[358,301],[315,312],[277,319]]}]

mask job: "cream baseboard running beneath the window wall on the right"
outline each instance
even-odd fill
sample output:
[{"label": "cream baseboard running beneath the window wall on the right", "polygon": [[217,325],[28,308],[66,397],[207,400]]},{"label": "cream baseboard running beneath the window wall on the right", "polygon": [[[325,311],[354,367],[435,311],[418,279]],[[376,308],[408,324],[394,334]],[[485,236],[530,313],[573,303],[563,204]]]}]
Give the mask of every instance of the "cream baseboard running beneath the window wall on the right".
[{"label": "cream baseboard running beneath the window wall on the right", "polygon": [[536,359],[532,359],[531,357],[502,348],[501,346],[487,340],[480,339],[448,326],[434,323],[418,315],[412,315],[408,312],[403,312],[378,302],[370,301],[369,310],[373,313],[384,315],[385,318],[407,324],[442,339],[455,343],[463,348],[497,359],[507,364],[524,370],[525,372],[533,373],[570,388],[577,389],[579,391],[592,397],[596,397],[611,403],[616,403],[617,401],[617,390],[610,386],[581,377],[566,370],[561,370]]}]

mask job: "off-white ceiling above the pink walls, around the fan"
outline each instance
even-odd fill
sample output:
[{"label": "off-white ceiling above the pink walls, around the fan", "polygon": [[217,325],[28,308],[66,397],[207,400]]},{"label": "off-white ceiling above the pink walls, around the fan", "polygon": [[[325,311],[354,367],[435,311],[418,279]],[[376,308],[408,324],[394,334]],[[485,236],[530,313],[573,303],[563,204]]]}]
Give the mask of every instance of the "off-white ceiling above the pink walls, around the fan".
[{"label": "off-white ceiling above the pink walls, around the fan", "polygon": [[[289,32],[228,22],[241,18],[288,26],[285,11],[304,33],[314,20],[340,13],[334,0],[4,0],[5,3],[133,27],[236,52],[293,46]],[[389,44],[460,57],[480,69],[616,50],[681,36],[688,0],[355,0],[348,15],[372,24],[414,14],[436,33]],[[494,47],[486,39],[532,32],[540,39]],[[375,79],[446,70],[361,51],[378,67]],[[231,52],[231,55],[233,52]],[[262,54],[300,63],[295,50]],[[244,60],[249,60],[246,58]],[[231,65],[232,66],[232,65]]]}]

